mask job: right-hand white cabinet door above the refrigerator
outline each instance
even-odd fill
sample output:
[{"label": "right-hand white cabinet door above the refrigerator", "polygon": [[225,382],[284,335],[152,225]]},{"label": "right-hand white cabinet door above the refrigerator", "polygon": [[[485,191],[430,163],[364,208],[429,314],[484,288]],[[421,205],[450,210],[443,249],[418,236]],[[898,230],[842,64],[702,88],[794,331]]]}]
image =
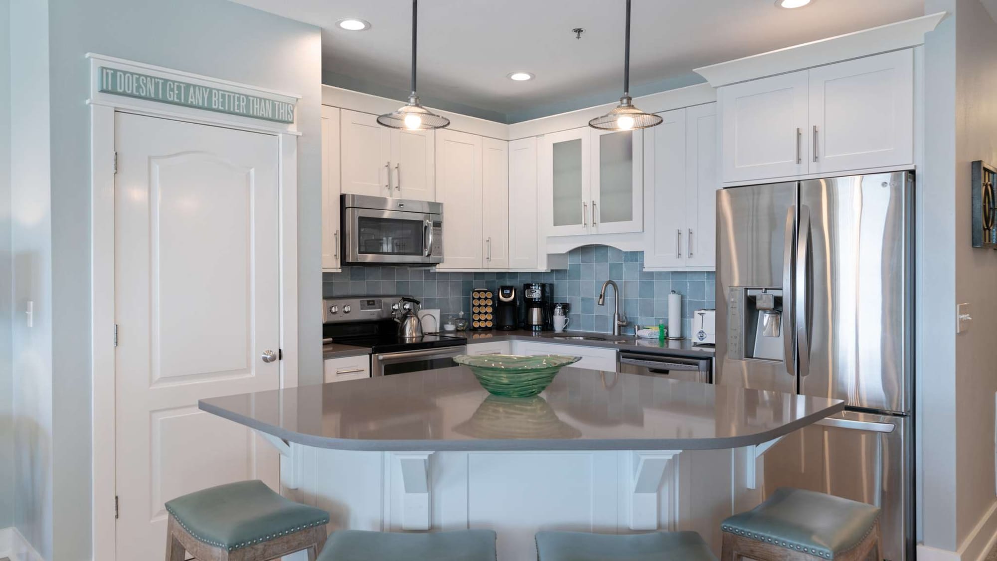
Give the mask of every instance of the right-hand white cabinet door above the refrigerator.
[{"label": "right-hand white cabinet door above the refrigerator", "polygon": [[810,173],[913,163],[913,57],[906,49],[811,69]]}]

